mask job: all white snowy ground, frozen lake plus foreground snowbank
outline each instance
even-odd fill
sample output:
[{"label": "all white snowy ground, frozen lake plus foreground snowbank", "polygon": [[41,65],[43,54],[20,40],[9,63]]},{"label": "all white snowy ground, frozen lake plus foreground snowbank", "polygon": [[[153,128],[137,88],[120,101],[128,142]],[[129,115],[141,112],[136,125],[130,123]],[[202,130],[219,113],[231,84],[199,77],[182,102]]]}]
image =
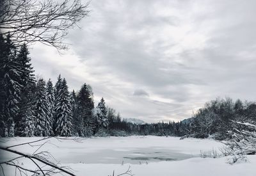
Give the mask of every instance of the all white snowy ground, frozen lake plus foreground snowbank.
[{"label": "all white snowy ground, frozen lake plus foreground snowbank", "polygon": [[[9,146],[38,139],[40,138],[3,138],[1,145]],[[51,152],[55,158],[52,161],[60,161],[63,166],[69,166],[76,175],[81,176],[107,176],[113,170],[118,175],[129,166],[134,175],[256,175],[255,156],[248,157],[247,162],[232,165],[227,163],[227,157],[199,157],[201,151],[220,152],[221,147],[223,144],[214,140],[130,136],[85,138],[78,141],[52,138],[38,151]],[[23,145],[15,150],[33,153],[37,148]],[[11,157],[13,156],[2,153],[1,161]],[[19,163],[24,166],[30,164],[24,159],[20,159]],[[12,175],[12,170],[8,172],[6,175]]]}]

